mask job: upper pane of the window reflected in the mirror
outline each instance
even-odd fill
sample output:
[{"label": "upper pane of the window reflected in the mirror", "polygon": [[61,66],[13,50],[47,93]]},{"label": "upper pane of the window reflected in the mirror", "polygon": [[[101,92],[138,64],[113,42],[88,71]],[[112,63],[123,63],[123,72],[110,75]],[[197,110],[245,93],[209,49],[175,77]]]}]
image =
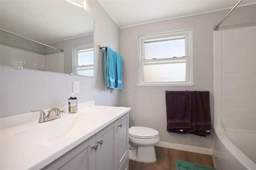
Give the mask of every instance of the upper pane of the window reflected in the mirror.
[{"label": "upper pane of the window reflected in the mirror", "polygon": [[78,65],[92,65],[92,64],[93,64],[92,50],[78,51]]}]

